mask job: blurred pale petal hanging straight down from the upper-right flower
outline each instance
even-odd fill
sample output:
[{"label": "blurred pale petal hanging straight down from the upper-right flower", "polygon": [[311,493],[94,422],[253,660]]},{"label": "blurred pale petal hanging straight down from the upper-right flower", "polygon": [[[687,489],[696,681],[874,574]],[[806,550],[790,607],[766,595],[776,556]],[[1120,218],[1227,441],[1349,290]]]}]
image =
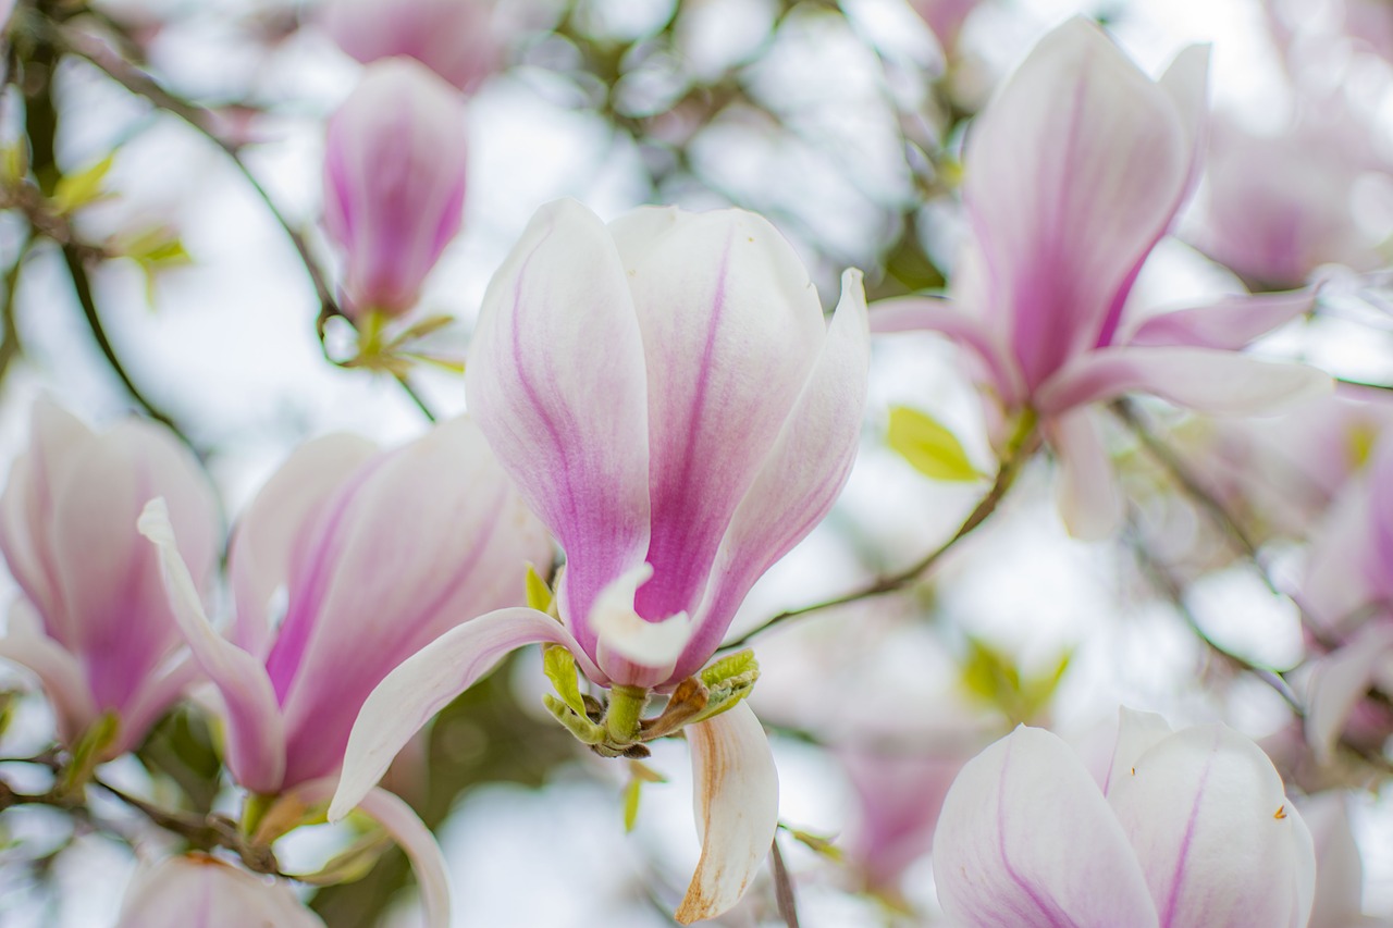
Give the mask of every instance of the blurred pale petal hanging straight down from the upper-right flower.
[{"label": "blurred pale petal hanging straight down from the upper-right flower", "polygon": [[1110,536],[1123,521],[1123,497],[1094,410],[1070,410],[1045,421],[1055,450],[1055,502],[1068,534],[1081,541]]}]

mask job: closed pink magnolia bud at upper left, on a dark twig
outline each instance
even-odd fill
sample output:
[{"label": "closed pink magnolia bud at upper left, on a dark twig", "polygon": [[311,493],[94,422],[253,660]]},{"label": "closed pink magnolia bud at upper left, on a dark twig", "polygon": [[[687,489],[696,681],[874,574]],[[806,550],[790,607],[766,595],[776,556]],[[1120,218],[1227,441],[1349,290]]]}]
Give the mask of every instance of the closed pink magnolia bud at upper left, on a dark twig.
[{"label": "closed pink magnolia bud at upper left, on a dark twig", "polygon": [[369,67],[325,144],[325,231],[344,252],[344,312],[400,315],[417,304],[460,231],[464,187],[458,98],[410,59]]}]

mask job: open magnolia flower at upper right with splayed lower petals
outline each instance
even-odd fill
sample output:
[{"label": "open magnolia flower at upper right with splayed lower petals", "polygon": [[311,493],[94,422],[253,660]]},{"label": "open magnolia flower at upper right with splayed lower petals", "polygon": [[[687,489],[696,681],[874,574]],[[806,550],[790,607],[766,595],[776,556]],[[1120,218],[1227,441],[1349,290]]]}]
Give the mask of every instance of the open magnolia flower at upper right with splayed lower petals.
[{"label": "open magnolia flower at upper right with splayed lower petals", "polygon": [[949,334],[1007,417],[1039,415],[1075,535],[1105,535],[1120,517],[1091,404],[1142,390],[1252,412],[1330,386],[1311,368],[1236,353],[1309,308],[1309,294],[1145,320],[1124,311],[1190,191],[1206,70],[1208,53],[1191,47],[1155,82],[1085,20],[1045,36],[968,132],[972,238],[951,302],[893,300],[872,315],[878,332]]}]

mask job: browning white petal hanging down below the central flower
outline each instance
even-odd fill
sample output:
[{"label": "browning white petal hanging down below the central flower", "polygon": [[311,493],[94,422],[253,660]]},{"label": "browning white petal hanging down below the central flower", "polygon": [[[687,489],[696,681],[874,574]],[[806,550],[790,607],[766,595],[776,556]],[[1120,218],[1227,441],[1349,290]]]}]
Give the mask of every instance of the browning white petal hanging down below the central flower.
[{"label": "browning white petal hanging down below the central flower", "polygon": [[701,861],[677,908],[690,925],[740,902],[779,828],[779,772],[747,702],[687,727]]}]

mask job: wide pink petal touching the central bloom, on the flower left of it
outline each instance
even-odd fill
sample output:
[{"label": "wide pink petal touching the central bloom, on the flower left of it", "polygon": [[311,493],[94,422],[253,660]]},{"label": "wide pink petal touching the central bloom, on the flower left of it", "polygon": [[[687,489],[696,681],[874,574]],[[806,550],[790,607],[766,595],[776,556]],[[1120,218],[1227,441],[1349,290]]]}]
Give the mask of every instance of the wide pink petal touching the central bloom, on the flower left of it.
[{"label": "wide pink petal touching the central bloom, on the flower left of it", "polygon": [[359,465],[305,532],[309,556],[266,669],[286,718],[286,782],[338,768],[364,699],[446,630],[525,601],[542,524],[478,426],[451,419]]}]

